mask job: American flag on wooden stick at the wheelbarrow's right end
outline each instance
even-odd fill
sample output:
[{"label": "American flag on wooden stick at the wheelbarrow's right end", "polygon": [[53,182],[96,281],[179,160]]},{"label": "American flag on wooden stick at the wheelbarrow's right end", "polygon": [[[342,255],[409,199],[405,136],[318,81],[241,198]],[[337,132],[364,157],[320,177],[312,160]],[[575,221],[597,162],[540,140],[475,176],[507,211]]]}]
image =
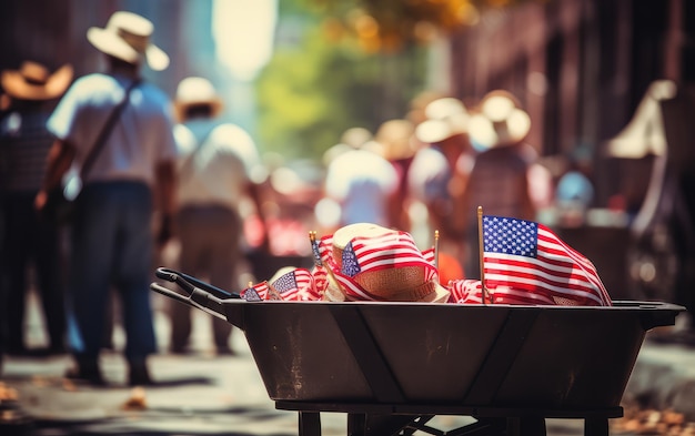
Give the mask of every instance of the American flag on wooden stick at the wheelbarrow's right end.
[{"label": "American flag on wooden stick at the wheelbarrow's right end", "polygon": [[557,304],[612,305],[591,261],[543,224],[483,215],[483,252],[488,290],[506,286]]}]

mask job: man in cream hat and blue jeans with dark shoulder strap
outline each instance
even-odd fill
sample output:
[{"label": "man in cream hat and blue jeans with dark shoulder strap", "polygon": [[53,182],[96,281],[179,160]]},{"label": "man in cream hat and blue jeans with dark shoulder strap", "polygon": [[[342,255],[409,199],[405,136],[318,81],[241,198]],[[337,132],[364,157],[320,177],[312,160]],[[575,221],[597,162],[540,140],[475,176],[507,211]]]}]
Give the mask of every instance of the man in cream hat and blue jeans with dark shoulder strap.
[{"label": "man in cream hat and blue jeans with dark shoulder strap", "polygon": [[149,20],[123,11],[113,13],[104,29],[89,29],[88,40],[107,55],[108,71],[78,79],[48,121],[58,140],[36,205],[44,205],[48,190],[72,164],[80,169],[68,281],[68,338],[75,367],[68,375],[97,385],[105,383],[99,352],[111,286],[122,302],[128,381],[152,383],[147,367],[147,356],[155,352],[151,221],[157,204],[159,242],[169,239],[177,153],[171,101],[140,81],[143,63],[153,70],[169,64],[150,41],[152,32]]}]

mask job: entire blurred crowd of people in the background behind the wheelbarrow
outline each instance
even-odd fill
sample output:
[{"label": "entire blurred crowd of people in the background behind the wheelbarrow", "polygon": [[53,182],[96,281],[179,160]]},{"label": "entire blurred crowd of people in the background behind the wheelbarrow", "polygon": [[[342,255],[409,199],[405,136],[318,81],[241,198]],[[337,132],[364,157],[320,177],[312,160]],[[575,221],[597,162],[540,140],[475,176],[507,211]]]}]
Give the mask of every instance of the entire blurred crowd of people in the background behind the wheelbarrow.
[{"label": "entire blurred crowd of people in the background behind the wheelbarrow", "polygon": [[[532,120],[504,90],[475,105],[425,92],[375,132],[345,131],[320,169],[263,162],[251,135],[221,120],[223,102],[208,79],[185,78],[172,97],[141,80],[144,65],[169,64],[153,31],[143,17],[115,12],[87,34],[107,59],[104,72],[75,79],[70,65],[51,72],[27,60],[2,73],[0,354],[28,352],[33,287],[44,352],[72,355],[68,376],[107,383],[99,356],[119,307],[129,383],[151,384],[149,284],[167,253],[169,266],[235,291],[243,273],[269,278],[263,266],[273,257],[310,256],[308,230],[370,222],[410,232],[422,247],[436,242],[442,280],[474,278],[477,206],[535,220],[556,192],[562,202],[592,202],[584,160],[556,183],[525,141]],[[62,227],[42,212],[68,180],[79,194]],[[187,353],[190,310],[172,301],[168,313],[170,351]],[[231,325],[212,320],[215,351],[233,353]]]}]

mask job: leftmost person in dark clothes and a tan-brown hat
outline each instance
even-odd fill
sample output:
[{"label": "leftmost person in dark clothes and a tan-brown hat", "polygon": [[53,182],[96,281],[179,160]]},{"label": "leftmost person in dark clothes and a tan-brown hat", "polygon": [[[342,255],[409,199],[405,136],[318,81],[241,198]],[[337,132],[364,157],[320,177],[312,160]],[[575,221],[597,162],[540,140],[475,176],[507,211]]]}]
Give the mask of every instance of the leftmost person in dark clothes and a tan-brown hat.
[{"label": "leftmost person in dark clothes and a tan-brown hat", "polygon": [[53,73],[34,61],[1,75],[0,97],[0,322],[7,332],[7,352],[28,352],[24,342],[29,265],[41,296],[49,354],[64,352],[66,315],[60,275],[60,234],[40,220],[33,199],[41,187],[46,158],[53,136],[46,120],[56,100],[72,81],[72,67]]}]

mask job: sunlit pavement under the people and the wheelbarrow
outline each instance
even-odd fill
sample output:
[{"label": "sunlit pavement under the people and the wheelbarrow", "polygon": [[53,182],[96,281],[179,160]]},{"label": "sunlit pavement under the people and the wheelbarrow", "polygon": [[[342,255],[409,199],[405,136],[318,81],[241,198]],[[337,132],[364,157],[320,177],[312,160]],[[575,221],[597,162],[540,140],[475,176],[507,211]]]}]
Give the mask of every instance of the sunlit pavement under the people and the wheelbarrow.
[{"label": "sunlit pavement under the people and the wheelbarrow", "polygon": [[[127,386],[127,366],[120,353],[102,356],[109,387],[64,379],[70,366],[68,356],[6,357],[0,381],[16,391],[18,399],[11,404],[18,407],[3,409],[0,403],[0,435],[299,434],[298,414],[276,410],[268,397],[243,333],[235,328],[232,335],[235,355],[214,356],[210,315],[192,313],[193,354],[152,356],[150,369],[158,382],[153,387]],[[161,302],[155,326],[161,349],[167,349],[169,321]],[[695,347],[663,344],[655,338],[663,338],[664,331],[653,333],[647,335],[623,397],[626,416],[638,404],[639,409],[674,410],[695,422]],[[118,328],[115,337],[118,348],[122,345]],[[466,419],[441,416],[433,425],[455,428]],[[631,427],[625,419],[611,422],[612,434],[644,434],[639,433],[644,427]],[[646,419],[655,420],[653,414]],[[324,413],[321,422],[324,436],[346,435],[344,414]],[[681,434],[695,435],[695,425],[692,429]],[[582,434],[582,420],[547,420],[548,436]]]}]

